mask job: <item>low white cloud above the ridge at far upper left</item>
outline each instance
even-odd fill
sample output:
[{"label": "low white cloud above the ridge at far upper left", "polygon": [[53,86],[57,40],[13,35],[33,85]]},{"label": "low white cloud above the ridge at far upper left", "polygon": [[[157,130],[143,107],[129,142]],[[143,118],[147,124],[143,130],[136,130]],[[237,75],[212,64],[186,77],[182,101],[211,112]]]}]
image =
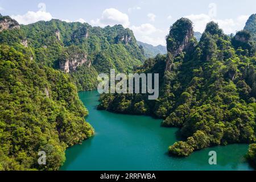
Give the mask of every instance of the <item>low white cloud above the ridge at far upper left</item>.
[{"label": "low white cloud above the ridge at far upper left", "polygon": [[15,19],[20,24],[35,23],[40,20],[51,20],[52,15],[46,11],[28,11],[24,15],[11,15],[11,18]]}]

